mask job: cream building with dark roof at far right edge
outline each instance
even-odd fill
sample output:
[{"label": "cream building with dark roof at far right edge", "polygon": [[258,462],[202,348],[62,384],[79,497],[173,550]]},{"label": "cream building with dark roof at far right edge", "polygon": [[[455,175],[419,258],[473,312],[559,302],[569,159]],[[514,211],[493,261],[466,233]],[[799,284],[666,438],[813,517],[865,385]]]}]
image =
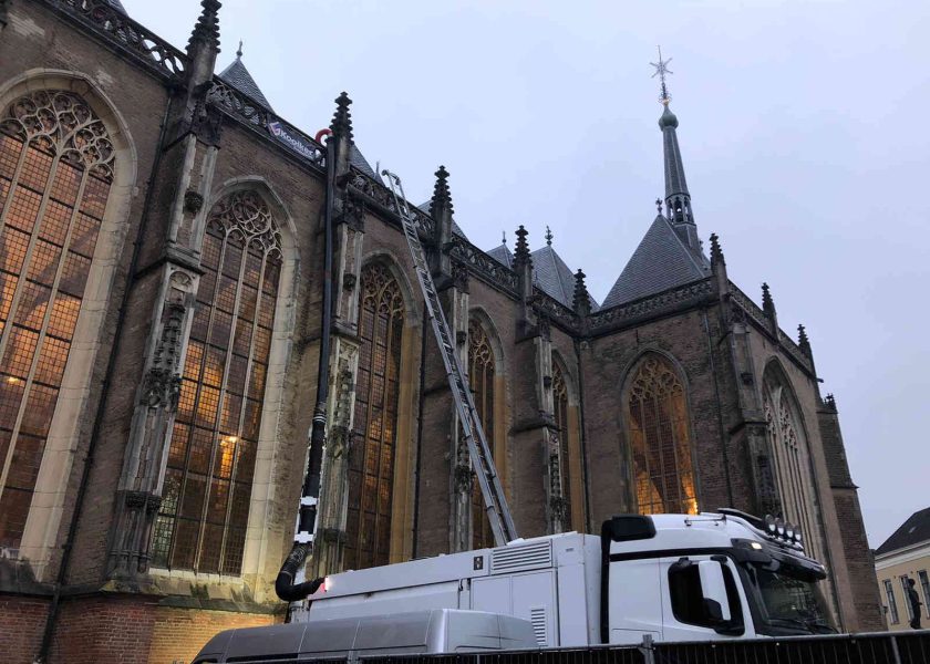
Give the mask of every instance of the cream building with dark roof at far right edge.
[{"label": "cream building with dark roof at far right edge", "polygon": [[913,612],[906,590],[908,579],[923,602],[921,626],[930,627],[930,507],[913,512],[875,550],[875,574],[891,631],[910,630]]}]

